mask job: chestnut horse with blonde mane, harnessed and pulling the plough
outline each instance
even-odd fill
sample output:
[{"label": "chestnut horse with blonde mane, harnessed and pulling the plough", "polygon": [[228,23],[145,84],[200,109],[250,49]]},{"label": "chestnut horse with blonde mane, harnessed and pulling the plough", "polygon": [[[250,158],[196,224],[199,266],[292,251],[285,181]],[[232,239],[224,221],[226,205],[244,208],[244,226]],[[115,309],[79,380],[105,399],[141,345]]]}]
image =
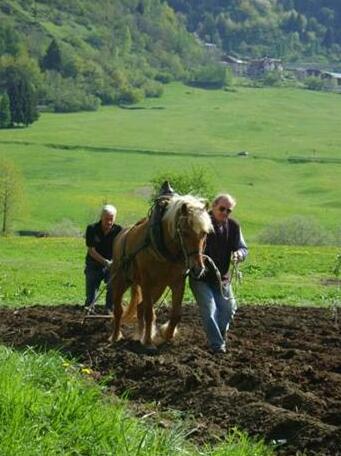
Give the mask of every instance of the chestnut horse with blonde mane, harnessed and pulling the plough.
[{"label": "chestnut horse with blonde mane, harnessed and pulling the plough", "polygon": [[153,305],[169,286],[172,308],[161,337],[164,341],[170,340],[181,317],[186,272],[189,270],[197,278],[204,273],[203,249],[206,235],[212,230],[203,200],[191,195],[173,195],[163,203],[165,207],[158,216],[154,209],[149,218],[119,233],[113,247],[111,341],[121,336],[122,297],[132,285],[132,298],[125,316],[137,311],[138,337],[146,351],[151,352],[156,350]]}]

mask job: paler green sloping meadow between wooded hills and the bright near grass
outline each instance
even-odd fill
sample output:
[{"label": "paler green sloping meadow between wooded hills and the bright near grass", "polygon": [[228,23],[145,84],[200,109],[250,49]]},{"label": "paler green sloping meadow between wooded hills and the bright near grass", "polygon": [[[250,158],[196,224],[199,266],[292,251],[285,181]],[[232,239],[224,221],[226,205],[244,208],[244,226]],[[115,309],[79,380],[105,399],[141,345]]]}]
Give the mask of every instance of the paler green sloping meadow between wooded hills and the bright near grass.
[{"label": "paler green sloping meadow between wooded hills and the bright near grass", "polygon": [[[83,230],[103,201],[117,205],[119,222],[134,222],[148,209],[152,177],[199,166],[217,192],[237,197],[247,240],[297,214],[338,230],[339,95],[172,84],[139,107],[43,114],[30,128],[2,130],[0,155],[17,164],[26,183],[28,210],[16,214],[14,228],[51,229],[69,219]],[[250,155],[236,157],[241,150]]]}]

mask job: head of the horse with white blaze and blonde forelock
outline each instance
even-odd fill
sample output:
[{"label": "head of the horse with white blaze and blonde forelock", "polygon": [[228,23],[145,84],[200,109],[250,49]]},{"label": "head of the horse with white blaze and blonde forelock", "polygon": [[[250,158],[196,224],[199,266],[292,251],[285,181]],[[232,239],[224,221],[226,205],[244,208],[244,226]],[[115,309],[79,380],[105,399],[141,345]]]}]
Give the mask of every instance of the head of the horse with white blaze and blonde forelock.
[{"label": "head of the horse with white blaze and blonde forelock", "polygon": [[169,203],[165,219],[185,260],[186,269],[195,278],[200,278],[205,271],[206,236],[213,229],[205,202],[191,195],[175,196]]}]

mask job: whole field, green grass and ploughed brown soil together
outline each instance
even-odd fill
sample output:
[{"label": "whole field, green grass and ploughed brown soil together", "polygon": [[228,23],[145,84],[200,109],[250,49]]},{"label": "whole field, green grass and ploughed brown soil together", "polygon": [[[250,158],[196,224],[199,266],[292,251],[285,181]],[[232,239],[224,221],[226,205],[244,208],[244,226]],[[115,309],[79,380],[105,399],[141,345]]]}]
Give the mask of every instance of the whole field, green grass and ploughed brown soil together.
[{"label": "whole field, green grass and ploughed brown soil together", "polygon": [[0,348],[0,453],[339,456],[339,249],[257,236],[297,214],[340,230],[340,114],[335,94],[171,84],[129,109],[1,131],[0,157],[25,181],[15,230],[83,232],[104,201],[135,222],[153,177],[200,167],[237,197],[250,255],[228,353],[207,351],[187,289],[179,337],[149,356],[130,327],[109,347],[108,322],[82,325],[83,238],[0,238],[0,343],[12,347]]}]

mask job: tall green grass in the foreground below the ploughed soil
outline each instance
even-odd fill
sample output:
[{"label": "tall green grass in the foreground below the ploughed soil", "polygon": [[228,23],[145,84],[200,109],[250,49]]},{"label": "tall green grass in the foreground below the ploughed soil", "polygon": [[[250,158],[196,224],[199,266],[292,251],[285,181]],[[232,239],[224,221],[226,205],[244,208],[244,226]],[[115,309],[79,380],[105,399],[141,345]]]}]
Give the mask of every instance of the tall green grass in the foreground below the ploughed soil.
[{"label": "tall green grass in the foreground below the ploughed soil", "polygon": [[[272,451],[235,432],[216,448],[185,442],[185,429],[164,430],[133,418],[126,403],[58,353],[18,353],[0,346],[0,454],[267,456]],[[86,369],[83,369],[86,371]]]}]

